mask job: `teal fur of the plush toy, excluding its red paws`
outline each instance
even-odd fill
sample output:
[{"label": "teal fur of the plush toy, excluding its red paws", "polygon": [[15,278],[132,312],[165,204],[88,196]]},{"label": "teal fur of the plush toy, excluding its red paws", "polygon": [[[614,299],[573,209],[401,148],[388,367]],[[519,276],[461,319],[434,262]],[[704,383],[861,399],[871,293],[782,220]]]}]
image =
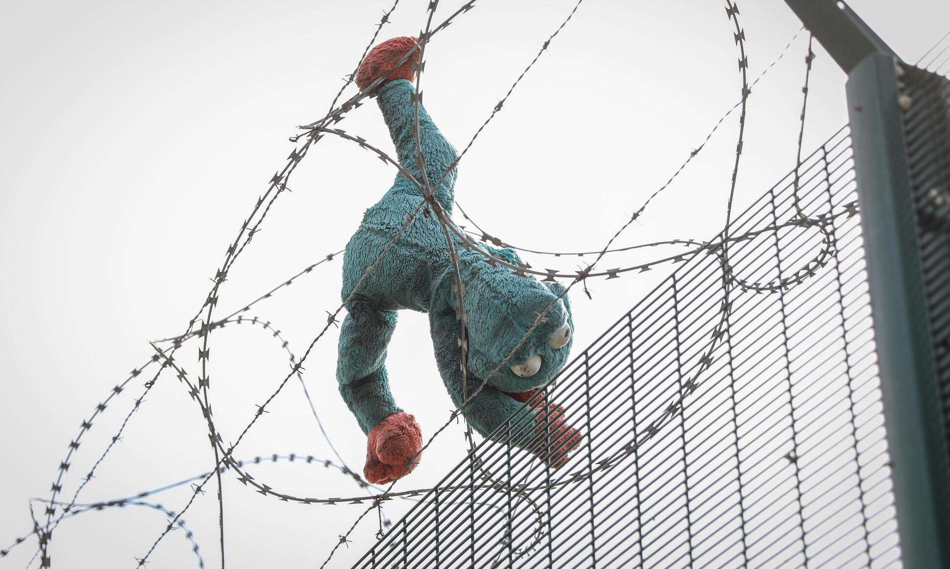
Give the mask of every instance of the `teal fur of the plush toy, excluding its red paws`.
[{"label": "teal fur of the plush toy, excluding its red paws", "polygon": [[[416,179],[422,172],[416,165],[413,138],[414,111],[411,96],[415,90],[407,80],[396,80],[379,88],[379,108],[390,128],[400,163]],[[420,105],[421,145],[426,159],[426,174],[435,184],[446,173],[456,155],[455,149],[436,128]],[[448,212],[452,211],[457,172],[446,176],[435,197]],[[402,228],[409,212],[424,200],[422,193],[402,174],[396,176],[390,191],[366,211],[363,222],[353,234],[343,261],[344,301],[366,270],[376,261],[393,235]],[[453,237],[453,239],[457,239]],[[511,263],[522,263],[510,248],[490,248]],[[504,357],[522,340],[524,333],[564,289],[561,284],[541,283],[531,277],[516,276],[504,266],[492,266],[485,257],[460,247],[463,282],[466,284],[465,307],[468,317],[467,393],[474,394],[489,376],[485,388],[463,409],[476,431],[487,436],[523,405],[503,392],[521,393],[537,388],[561,371],[573,343],[558,350],[550,348],[550,336],[566,319],[571,322],[570,303],[565,296],[555,303],[537,329],[524,341],[514,356],[503,365]],[[392,398],[386,373],[387,344],[396,325],[396,311],[427,312],[439,373],[456,406],[464,400],[459,361],[460,322],[456,318],[458,296],[452,286],[455,268],[449,259],[446,236],[435,215],[419,214],[383,255],[379,265],[361,284],[347,303],[348,316],[340,331],[336,378],[340,394],[356,416],[360,428],[369,432],[391,413],[402,411]],[[510,366],[521,364],[534,354],[542,357],[542,368],[534,376],[519,377]],[[412,380],[414,377],[407,377]],[[524,409],[516,421],[536,418],[536,410]]]}]

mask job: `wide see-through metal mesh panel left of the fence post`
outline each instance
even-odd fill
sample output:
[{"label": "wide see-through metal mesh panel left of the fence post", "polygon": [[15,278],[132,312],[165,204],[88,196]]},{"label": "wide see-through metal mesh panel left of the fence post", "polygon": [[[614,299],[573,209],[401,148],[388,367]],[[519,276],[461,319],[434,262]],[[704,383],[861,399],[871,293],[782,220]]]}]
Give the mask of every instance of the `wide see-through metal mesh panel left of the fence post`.
[{"label": "wide see-through metal mesh panel left of the fence post", "polygon": [[713,245],[546,390],[565,465],[509,424],[357,566],[899,565],[848,131],[797,178],[736,217],[728,297]]}]

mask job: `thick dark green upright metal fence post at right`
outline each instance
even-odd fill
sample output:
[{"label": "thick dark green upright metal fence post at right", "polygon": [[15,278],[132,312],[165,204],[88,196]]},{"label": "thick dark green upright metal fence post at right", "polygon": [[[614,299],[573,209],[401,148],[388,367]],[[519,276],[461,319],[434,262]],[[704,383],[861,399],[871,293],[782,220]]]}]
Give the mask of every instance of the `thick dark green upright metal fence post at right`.
[{"label": "thick dark green upright metal fence post at right", "polygon": [[896,64],[876,53],[854,66],[848,115],[903,565],[950,567],[950,474]]}]

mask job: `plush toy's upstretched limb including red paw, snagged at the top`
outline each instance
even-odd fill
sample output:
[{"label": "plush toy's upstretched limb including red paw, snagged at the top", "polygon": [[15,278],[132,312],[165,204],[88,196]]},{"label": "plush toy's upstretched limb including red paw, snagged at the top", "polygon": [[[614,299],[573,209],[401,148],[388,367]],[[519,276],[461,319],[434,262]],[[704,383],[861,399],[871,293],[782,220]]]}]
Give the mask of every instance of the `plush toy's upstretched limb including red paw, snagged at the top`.
[{"label": "plush toy's upstretched limb including red paw, snagged at the top", "polygon": [[[418,51],[409,60],[395,67],[416,44],[415,38],[392,38],[372,48],[356,74],[356,83],[361,89],[381,76],[387,80],[376,87],[379,108],[383,119],[390,128],[392,143],[396,146],[399,162],[420,184],[425,184],[422,169],[416,162],[415,143],[415,87],[412,86],[413,67],[418,60]],[[439,129],[428,116],[426,109],[419,103],[419,142],[422,156],[426,161],[428,183],[435,189],[435,197],[449,212],[452,209],[453,188],[456,172],[453,169],[446,175],[447,167],[456,158],[455,149],[448,143]],[[445,176],[445,181],[436,187]]]}]

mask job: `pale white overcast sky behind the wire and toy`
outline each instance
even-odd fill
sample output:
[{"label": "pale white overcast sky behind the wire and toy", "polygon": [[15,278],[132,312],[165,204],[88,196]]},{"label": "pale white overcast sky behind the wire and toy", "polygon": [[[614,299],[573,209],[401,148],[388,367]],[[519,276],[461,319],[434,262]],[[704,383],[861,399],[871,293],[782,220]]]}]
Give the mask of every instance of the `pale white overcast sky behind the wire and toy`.
[{"label": "pale white overcast sky behind the wire and toy", "polygon": [[[412,35],[427,1],[403,0],[380,39]],[[445,2],[442,17],[460,5]],[[493,2],[439,34],[423,79],[429,112],[462,147],[573,6],[573,0]],[[127,372],[151,354],[146,340],[179,334],[267,180],[293,148],[295,125],[322,117],[390,3],[11,2],[0,3],[0,547],[30,527],[29,497],[47,497],[69,440]],[[937,0],[855,0],[883,39],[915,61],[947,31]],[[742,2],[752,77],[799,28],[779,1]],[[441,18],[437,15],[437,20]],[[524,79],[460,166],[457,196],[483,227],[528,248],[600,248],[675,171],[740,89],[732,29],[720,2],[586,0],[550,53]],[[807,35],[753,89],[737,207],[794,165]],[[844,75],[816,44],[806,149],[845,122]],[[349,95],[349,93],[348,93]],[[384,149],[391,143],[374,102],[341,128]],[[621,244],[706,238],[724,219],[736,120],[728,119]],[[393,173],[371,154],[324,139],[306,157],[220,294],[221,314],[342,248]],[[460,217],[459,217],[460,218]],[[460,218],[461,219],[461,218]],[[620,255],[605,268],[645,256]],[[535,266],[576,259],[531,257]],[[320,266],[261,303],[301,353],[339,303],[338,262]],[[591,284],[573,295],[575,350],[641,299],[668,269]],[[213,339],[212,403],[225,440],[237,436],[285,375],[267,333],[225,329]],[[336,392],[335,329],[305,365],[308,387],[334,444],[362,469],[365,437]],[[194,346],[179,358],[197,376]],[[403,314],[388,361],[397,401],[428,436],[451,403],[431,357],[428,321]],[[144,381],[144,378],[142,378]],[[132,385],[138,385],[133,382]],[[134,393],[110,406],[70,468],[66,493],[118,428]],[[251,431],[238,458],[331,452],[298,383]],[[229,439],[230,437],[230,439]],[[397,488],[427,487],[465,453],[453,427]],[[162,486],[212,464],[198,408],[165,377],[126,429],[81,501]],[[270,486],[314,497],[352,495],[323,468],[252,470]],[[163,494],[178,509],[187,487]],[[362,506],[301,506],[224,486],[228,565],[313,566]],[[405,504],[393,504],[393,520]],[[213,491],[185,516],[218,565]],[[374,516],[331,566],[371,543]],[[134,566],[165,521],[111,510],[63,523],[54,566]],[[18,547],[3,563],[23,566]],[[149,567],[194,556],[170,535]]]}]

